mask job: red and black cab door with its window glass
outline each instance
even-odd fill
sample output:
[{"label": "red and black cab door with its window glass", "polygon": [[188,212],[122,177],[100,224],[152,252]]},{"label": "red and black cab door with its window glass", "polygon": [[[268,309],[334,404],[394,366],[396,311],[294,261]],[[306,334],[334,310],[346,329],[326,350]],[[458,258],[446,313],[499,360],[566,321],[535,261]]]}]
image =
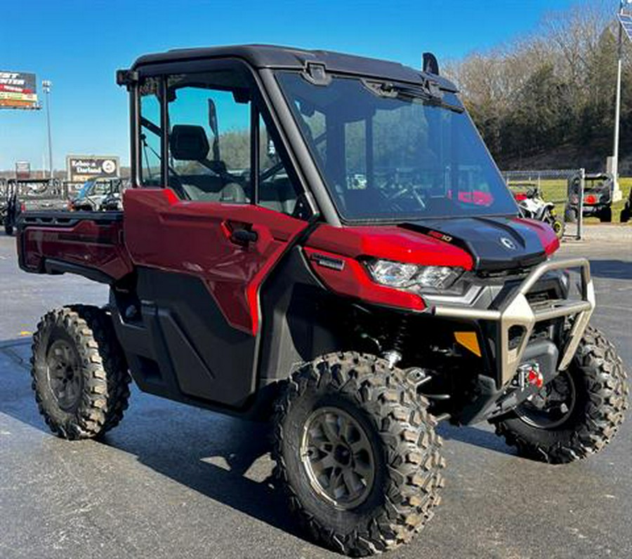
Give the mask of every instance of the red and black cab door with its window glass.
[{"label": "red and black cab door with its window glass", "polygon": [[[132,370],[147,391],[239,408],[256,389],[258,291],[308,216],[262,140],[254,90],[239,65],[141,79],[143,165],[124,234],[148,340]],[[268,151],[278,160],[264,169]]]}]

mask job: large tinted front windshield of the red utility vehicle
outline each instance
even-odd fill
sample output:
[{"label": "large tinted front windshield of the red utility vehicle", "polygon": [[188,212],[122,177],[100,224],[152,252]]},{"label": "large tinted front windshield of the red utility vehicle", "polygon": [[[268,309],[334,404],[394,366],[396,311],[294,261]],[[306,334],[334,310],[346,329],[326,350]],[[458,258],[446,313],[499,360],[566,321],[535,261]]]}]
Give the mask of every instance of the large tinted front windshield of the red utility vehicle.
[{"label": "large tinted front windshield of the red utility vehicle", "polygon": [[454,93],[277,72],[345,221],[516,215],[518,209]]}]

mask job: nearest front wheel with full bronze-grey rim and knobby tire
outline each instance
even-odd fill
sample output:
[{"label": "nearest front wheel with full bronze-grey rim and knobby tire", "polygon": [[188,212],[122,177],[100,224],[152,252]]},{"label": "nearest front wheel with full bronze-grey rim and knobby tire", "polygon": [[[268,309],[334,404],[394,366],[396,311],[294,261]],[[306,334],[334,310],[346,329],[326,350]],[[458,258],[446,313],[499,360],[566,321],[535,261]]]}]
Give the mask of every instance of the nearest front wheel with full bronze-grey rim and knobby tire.
[{"label": "nearest front wheel with full bronze-grey rim and knobby tire", "polygon": [[354,352],[296,372],[275,414],[275,478],[312,537],[347,555],[412,539],[443,485],[427,402],[386,361]]}]

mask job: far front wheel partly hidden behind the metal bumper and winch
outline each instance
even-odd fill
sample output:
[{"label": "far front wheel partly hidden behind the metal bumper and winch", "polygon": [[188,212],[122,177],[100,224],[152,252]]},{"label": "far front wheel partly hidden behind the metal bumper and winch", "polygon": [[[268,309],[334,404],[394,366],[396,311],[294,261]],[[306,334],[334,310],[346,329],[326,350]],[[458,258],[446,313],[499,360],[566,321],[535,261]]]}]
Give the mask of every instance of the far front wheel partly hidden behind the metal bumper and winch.
[{"label": "far front wheel partly hidden behind the metal bumper and winch", "polygon": [[588,326],[567,370],[496,424],[522,456],[567,464],[610,443],[628,407],[626,372],[614,346]]}]

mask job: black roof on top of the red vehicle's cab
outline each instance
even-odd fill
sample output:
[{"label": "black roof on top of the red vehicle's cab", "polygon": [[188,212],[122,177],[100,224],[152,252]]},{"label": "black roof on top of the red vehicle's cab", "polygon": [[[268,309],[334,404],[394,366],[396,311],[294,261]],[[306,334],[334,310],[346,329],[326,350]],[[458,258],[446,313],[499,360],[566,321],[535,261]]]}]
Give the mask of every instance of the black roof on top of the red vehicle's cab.
[{"label": "black roof on top of the red vehicle's cab", "polygon": [[422,76],[426,76],[438,81],[442,88],[456,90],[454,83],[445,78],[434,74],[423,74],[420,69],[404,66],[399,62],[335,53],[329,50],[303,50],[301,48],[273,45],[177,48],[167,50],[165,53],[143,55],[136,59],[132,69],[151,64],[203,58],[240,58],[255,68],[276,69],[303,69],[308,62],[315,62],[324,65],[329,72],[374,76],[411,83],[418,83],[421,81]]}]

